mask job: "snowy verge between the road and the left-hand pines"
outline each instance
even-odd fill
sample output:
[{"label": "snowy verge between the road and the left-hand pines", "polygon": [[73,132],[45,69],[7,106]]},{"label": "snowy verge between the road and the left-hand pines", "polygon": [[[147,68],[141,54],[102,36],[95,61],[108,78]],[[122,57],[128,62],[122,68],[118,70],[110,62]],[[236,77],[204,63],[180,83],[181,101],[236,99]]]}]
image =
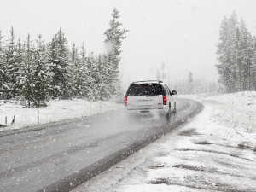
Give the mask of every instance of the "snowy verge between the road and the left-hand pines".
[{"label": "snowy verge between the road and the left-hand pines", "polygon": [[50,101],[46,108],[24,108],[15,103],[0,102],[1,125],[5,125],[5,117],[7,117],[7,125],[10,125],[15,116],[15,124],[0,127],[0,131],[106,113],[119,108],[124,107],[115,102],[89,102],[81,99]]}]

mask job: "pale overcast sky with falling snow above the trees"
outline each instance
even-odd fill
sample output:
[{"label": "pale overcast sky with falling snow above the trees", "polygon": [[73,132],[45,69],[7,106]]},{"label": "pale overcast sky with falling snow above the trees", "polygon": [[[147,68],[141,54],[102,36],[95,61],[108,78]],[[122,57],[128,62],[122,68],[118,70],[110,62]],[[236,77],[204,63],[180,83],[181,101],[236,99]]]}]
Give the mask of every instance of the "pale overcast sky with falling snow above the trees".
[{"label": "pale overcast sky with falling snow above the trees", "polygon": [[14,26],[16,38],[25,40],[29,32],[32,39],[42,34],[48,40],[61,27],[69,44],[84,42],[88,52],[103,53],[114,7],[130,30],[120,64],[125,83],[155,79],[162,62],[169,81],[186,78],[189,71],[216,80],[219,26],[233,10],[256,34],[254,0],[0,0],[0,29],[4,39]]}]

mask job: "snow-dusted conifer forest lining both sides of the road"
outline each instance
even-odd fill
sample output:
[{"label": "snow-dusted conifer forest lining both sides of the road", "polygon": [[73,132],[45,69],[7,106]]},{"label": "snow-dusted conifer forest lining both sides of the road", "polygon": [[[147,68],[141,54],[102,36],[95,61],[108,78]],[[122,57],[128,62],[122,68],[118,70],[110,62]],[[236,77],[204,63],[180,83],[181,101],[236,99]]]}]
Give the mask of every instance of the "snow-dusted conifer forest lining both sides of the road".
[{"label": "snow-dusted conifer forest lining both sides of the road", "polygon": [[[112,20],[104,32],[106,53],[87,52],[85,45],[70,45],[61,28],[51,39],[43,35],[17,38],[15,29],[9,37],[0,30],[0,99],[23,101],[28,107],[46,106],[50,99],[85,98],[90,101],[122,96],[119,79],[121,45],[128,30],[113,9]],[[169,80],[166,69],[158,70],[156,79],[182,94],[218,94],[256,90],[256,37],[247,30],[235,12],[220,25],[216,51],[218,82],[194,77]]]}]

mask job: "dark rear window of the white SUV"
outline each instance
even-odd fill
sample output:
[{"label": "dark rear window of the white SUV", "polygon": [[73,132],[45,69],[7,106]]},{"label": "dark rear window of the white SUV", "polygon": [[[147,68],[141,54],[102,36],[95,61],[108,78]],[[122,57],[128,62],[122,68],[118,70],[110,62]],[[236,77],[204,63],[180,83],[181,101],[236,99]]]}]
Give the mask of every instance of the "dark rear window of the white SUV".
[{"label": "dark rear window of the white SUV", "polygon": [[126,96],[157,96],[164,95],[161,84],[131,84]]}]

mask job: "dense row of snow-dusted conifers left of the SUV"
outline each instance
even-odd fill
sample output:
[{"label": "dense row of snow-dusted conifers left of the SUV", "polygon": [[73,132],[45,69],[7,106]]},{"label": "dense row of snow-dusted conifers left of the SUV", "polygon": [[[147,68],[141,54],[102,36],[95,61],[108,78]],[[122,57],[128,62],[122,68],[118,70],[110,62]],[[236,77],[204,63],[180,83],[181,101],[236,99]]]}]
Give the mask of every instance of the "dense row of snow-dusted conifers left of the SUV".
[{"label": "dense row of snow-dusted conifers left of the SUV", "polygon": [[26,100],[28,106],[45,106],[48,99],[108,100],[119,94],[121,42],[127,30],[113,10],[106,35],[106,54],[87,54],[84,45],[69,49],[61,29],[45,42],[41,35],[15,42],[14,29],[3,41],[0,32],[0,99]]}]

